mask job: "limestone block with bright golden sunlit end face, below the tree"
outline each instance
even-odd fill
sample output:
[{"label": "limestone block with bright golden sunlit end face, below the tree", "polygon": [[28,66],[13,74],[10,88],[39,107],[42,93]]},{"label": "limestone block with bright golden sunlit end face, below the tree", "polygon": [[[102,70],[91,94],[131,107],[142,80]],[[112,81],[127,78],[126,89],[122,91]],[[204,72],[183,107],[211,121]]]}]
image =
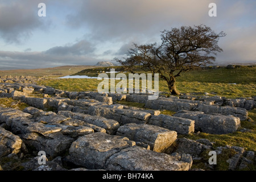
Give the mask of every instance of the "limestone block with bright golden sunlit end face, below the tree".
[{"label": "limestone block with bright golden sunlit end face, below the tree", "polygon": [[159,126],[130,123],[120,126],[117,135],[127,137],[135,142],[143,142],[150,150],[165,152],[177,139],[176,131],[170,131]]}]

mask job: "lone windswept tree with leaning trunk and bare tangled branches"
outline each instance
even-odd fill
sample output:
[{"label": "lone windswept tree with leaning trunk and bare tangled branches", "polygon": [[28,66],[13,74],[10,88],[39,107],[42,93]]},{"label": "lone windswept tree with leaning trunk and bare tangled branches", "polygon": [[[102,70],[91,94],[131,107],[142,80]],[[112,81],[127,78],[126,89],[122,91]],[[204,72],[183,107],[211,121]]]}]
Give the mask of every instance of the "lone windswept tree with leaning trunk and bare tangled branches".
[{"label": "lone windswept tree with leaning trunk and bare tangled branches", "polygon": [[171,31],[162,31],[160,45],[134,43],[134,48],[126,53],[124,60],[115,60],[131,72],[139,66],[144,71],[159,73],[160,78],[167,81],[170,93],[179,95],[175,85],[176,77],[181,72],[215,61],[214,55],[222,52],[218,46],[218,40],[222,36],[226,34],[216,34],[205,25],[172,28]]}]

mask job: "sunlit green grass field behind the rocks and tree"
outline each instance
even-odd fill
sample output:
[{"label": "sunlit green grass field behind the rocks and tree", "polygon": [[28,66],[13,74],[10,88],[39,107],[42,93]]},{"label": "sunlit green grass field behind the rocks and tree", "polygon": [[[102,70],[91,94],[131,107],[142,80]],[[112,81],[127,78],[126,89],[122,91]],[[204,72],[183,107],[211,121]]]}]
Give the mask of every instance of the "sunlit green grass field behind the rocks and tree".
[{"label": "sunlit green grass field behind the rocks and tree", "polygon": [[[86,69],[87,71],[79,72],[77,75],[97,77],[101,69]],[[100,82],[97,79],[67,78],[43,80],[39,84],[69,91],[96,91]],[[115,81],[116,84],[118,82]],[[228,98],[256,96],[256,67],[185,72],[176,78],[176,85],[181,93],[204,94],[207,92]],[[162,79],[159,79],[159,91],[168,92],[166,81]]]}]

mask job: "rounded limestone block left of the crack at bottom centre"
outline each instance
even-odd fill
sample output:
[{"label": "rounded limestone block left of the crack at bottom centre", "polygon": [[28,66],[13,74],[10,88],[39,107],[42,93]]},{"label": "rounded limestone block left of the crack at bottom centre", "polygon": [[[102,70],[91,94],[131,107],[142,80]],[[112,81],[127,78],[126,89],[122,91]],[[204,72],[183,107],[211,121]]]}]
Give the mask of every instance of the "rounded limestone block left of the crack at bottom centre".
[{"label": "rounded limestone block left of the crack at bottom centre", "polygon": [[67,159],[88,169],[104,169],[110,156],[134,144],[126,137],[93,133],[73,142]]}]

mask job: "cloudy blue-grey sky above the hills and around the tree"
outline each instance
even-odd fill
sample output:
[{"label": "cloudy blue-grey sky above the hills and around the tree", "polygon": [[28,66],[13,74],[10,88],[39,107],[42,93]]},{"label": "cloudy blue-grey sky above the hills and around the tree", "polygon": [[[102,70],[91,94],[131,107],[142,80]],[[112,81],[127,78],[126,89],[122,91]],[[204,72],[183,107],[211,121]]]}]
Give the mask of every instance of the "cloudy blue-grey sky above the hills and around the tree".
[{"label": "cloudy blue-grey sky above the hills and around the tree", "polygon": [[96,65],[199,24],[226,33],[216,63],[256,63],[255,0],[0,0],[0,69]]}]

